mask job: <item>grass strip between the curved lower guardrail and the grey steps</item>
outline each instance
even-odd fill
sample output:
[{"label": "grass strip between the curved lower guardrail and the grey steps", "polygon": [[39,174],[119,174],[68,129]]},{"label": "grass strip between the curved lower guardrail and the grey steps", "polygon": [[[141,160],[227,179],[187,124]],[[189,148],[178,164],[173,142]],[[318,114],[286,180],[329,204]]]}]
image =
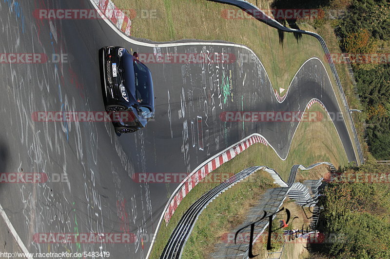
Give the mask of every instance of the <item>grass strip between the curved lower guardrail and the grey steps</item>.
[{"label": "grass strip between the curved lower guardrail and the grey steps", "polygon": [[236,184],[219,195],[200,214],[184,247],[182,259],[208,258],[220,237],[244,223],[251,207],[254,207],[265,190],[279,187],[273,184],[269,173],[258,171],[247,181]]}]

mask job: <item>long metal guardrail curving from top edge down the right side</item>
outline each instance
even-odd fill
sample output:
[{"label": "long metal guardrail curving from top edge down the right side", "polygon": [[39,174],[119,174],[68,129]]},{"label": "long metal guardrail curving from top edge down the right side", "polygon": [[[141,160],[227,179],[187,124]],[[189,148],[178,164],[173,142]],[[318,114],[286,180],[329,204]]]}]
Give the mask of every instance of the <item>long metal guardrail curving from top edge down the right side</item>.
[{"label": "long metal guardrail curving from top edge down the right side", "polygon": [[[341,82],[340,82],[340,78],[338,77],[337,70],[336,70],[336,68],[335,68],[335,66],[333,64],[332,59],[331,59],[331,54],[330,54],[330,52],[328,50],[328,47],[326,46],[326,43],[325,43],[324,39],[320,35],[318,35],[316,33],[313,33],[313,32],[304,31],[304,30],[297,30],[297,29],[291,29],[291,28],[284,27],[281,23],[279,23],[278,21],[276,21],[272,17],[269,17],[268,15],[266,15],[263,11],[261,11],[259,8],[257,8],[257,6],[253,5],[250,2],[247,2],[245,0],[209,0],[209,1],[226,3],[226,4],[231,4],[231,5],[234,5],[236,7],[239,7],[243,11],[248,13],[249,15],[252,15],[255,19],[257,19],[257,20],[259,20],[261,22],[264,22],[267,25],[269,25],[269,26],[271,26],[273,28],[279,29],[281,31],[289,32],[289,33],[300,33],[300,34],[312,35],[316,39],[318,39],[318,41],[320,42],[320,44],[322,46],[322,49],[324,50],[324,52],[325,52],[325,54],[327,56],[327,59],[328,59],[328,62],[329,62],[329,66],[331,67],[333,79],[336,82],[337,89],[339,91],[339,94],[341,96],[341,100],[343,102],[343,105],[344,105],[344,108],[345,108],[345,111],[346,111],[346,114],[347,114],[347,120],[349,121],[349,123],[351,125],[354,142],[355,142],[357,153],[358,153],[358,156],[359,156],[358,159],[360,160],[360,163],[363,164],[364,163],[363,152],[362,152],[362,149],[361,149],[361,146],[360,146],[359,139],[357,137],[357,133],[356,133],[355,125],[353,124],[351,113],[349,112],[350,109],[349,109],[349,106],[348,106],[348,103],[347,103],[347,99],[345,97],[343,88],[341,86]],[[256,15],[254,15],[254,12],[256,12]],[[258,15],[259,12],[261,13],[261,16]],[[263,18],[263,17],[266,17],[266,18]]]}]

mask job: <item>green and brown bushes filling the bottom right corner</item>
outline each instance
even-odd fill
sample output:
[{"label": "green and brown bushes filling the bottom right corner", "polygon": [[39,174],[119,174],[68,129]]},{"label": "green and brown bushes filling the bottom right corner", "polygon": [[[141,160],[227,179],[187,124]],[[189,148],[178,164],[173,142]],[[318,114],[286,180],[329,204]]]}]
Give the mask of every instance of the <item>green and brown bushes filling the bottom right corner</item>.
[{"label": "green and brown bushes filling the bottom right corner", "polygon": [[[389,173],[369,157],[361,167],[344,173]],[[329,183],[325,190],[325,233],[338,239],[317,245],[316,251],[337,259],[390,258],[390,185],[387,183]]]}]

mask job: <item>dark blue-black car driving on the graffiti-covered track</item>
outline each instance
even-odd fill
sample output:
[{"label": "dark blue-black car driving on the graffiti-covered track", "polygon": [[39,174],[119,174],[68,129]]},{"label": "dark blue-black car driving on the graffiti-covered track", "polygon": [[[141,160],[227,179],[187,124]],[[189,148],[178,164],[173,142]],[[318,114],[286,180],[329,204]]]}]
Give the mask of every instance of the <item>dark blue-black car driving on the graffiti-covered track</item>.
[{"label": "dark blue-black car driving on the graffiti-covered track", "polygon": [[105,109],[127,112],[130,120],[113,122],[117,133],[144,128],[155,115],[152,74],[138,59],[122,47],[99,50],[100,79]]}]

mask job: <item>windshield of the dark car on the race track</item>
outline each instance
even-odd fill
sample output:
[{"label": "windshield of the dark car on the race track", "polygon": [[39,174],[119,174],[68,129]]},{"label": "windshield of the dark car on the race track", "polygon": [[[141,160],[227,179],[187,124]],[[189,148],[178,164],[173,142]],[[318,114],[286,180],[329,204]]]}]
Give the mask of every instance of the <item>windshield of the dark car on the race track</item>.
[{"label": "windshield of the dark car on the race track", "polygon": [[137,60],[134,60],[134,73],[136,80],[136,98],[140,104],[149,104],[151,98],[151,90],[153,89],[150,85],[149,71]]}]

